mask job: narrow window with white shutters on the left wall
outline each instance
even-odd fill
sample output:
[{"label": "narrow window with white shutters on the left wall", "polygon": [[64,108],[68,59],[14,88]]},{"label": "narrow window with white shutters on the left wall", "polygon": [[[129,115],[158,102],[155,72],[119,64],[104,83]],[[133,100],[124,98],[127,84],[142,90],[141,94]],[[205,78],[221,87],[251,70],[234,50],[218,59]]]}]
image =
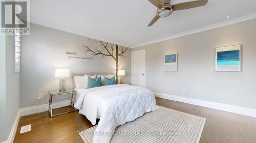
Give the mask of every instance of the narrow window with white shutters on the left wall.
[{"label": "narrow window with white shutters on the left wall", "polygon": [[14,72],[20,71],[20,35],[19,33],[15,34],[15,69]]}]

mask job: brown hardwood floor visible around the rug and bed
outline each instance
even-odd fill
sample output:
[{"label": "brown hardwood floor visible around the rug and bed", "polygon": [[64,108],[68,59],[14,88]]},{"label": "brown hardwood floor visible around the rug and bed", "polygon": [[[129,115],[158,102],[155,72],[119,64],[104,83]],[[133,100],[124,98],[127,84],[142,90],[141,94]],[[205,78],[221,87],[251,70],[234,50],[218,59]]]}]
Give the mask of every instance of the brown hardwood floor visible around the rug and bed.
[{"label": "brown hardwood floor visible around the rug and bed", "polygon": [[[200,143],[256,142],[256,118],[167,99],[156,100],[157,105],[206,118]],[[28,124],[31,124],[31,131],[19,134],[20,127]],[[46,111],[21,117],[14,142],[83,142],[77,131],[90,127],[91,122],[78,111],[53,118]]]}]

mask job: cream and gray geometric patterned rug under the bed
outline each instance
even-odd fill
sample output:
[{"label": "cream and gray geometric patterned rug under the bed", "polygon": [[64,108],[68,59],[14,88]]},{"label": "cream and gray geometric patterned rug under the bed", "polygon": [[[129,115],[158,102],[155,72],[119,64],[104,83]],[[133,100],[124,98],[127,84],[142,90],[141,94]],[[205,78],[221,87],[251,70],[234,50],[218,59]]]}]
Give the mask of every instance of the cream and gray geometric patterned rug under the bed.
[{"label": "cream and gray geometric patterned rug under the bed", "polygon": [[[199,143],[205,118],[159,106],[155,111],[118,126],[110,142]],[[93,142],[97,126],[80,132],[86,143]]]}]

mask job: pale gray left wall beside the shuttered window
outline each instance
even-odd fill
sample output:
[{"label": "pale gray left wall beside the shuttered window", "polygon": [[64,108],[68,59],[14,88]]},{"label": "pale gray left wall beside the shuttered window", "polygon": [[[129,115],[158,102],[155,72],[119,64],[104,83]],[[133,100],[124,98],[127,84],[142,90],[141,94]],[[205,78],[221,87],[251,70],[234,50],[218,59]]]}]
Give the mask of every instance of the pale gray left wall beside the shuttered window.
[{"label": "pale gray left wall beside the shuttered window", "polygon": [[14,73],[14,36],[1,36],[0,142],[9,137],[19,110],[19,73]]}]

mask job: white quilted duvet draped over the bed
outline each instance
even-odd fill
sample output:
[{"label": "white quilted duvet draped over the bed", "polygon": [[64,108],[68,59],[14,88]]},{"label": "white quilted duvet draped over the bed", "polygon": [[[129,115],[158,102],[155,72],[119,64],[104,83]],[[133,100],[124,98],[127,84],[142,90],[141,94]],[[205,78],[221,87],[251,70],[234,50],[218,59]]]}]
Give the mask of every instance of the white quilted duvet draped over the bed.
[{"label": "white quilted duvet draped over the bed", "polygon": [[116,127],[141,117],[145,112],[157,109],[153,93],[145,88],[129,84],[116,84],[78,90],[75,107],[93,125],[93,142],[110,142]]}]

